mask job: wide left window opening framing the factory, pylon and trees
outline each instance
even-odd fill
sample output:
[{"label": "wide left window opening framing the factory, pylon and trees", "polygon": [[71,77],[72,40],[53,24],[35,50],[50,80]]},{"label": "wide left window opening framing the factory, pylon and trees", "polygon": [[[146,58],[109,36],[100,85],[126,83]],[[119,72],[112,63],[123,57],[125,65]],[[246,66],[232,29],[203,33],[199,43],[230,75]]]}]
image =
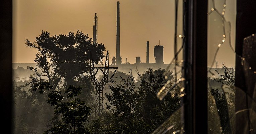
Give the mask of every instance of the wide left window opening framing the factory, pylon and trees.
[{"label": "wide left window opening framing the factory, pylon and trees", "polygon": [[14,133],[178,133],[183,1],[13,1]]}]

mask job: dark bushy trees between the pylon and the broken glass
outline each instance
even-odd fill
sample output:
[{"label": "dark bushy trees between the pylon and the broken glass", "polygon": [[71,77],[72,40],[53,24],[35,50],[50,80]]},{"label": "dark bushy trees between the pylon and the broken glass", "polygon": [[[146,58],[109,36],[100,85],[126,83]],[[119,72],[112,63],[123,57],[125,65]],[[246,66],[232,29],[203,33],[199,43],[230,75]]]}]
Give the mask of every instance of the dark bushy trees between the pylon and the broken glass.
[{"label": "dark bushy trees between the pylon and the broken glass", "polygon": [[[108,114],[106,119],[110,121],[104,121],[107,126],[101,126],[102,131],[110,129],[125,134],[151,133],[174,113],[180,107],[178,96],[172,97],[168,94],[162,101],[156,97],[157,92],[167,81],[162,75],[164,71],[146,70],[139,75],[138,88],[135,87],[131,72],[129,78],[122,78],[123,84],[109,86],[111,93],[106,94],[109,101],[106,105],[111,114]],[[172,72],[169,71],[168,75],[169,78],[173,78]]]}]

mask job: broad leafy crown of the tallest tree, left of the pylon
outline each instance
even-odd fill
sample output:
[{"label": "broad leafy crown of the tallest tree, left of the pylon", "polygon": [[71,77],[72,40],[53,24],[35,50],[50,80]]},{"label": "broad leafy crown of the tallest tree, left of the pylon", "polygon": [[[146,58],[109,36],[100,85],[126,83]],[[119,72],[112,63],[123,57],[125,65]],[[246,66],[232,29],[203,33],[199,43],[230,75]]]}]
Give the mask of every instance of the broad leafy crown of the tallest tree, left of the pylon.
[{"label": "broad leafy crown of the tallest tree, left of the pylon", "polygon": [[[90,52],[94,63],[102,62],[105,46],[93,43],[88,34],[81,31],[69,32],[67,35],[59,34],[50,36],[47,31],[42,31],[35,42],[26,40],[25,45],[37,50],[36,67],[28,67],[35,72],[31,77],[32,83],[46,80],[55,89],[62,78],[66,85],[81,77],[84,67],[89,66]],[[84,70],[86,71],[86,70]]]}]

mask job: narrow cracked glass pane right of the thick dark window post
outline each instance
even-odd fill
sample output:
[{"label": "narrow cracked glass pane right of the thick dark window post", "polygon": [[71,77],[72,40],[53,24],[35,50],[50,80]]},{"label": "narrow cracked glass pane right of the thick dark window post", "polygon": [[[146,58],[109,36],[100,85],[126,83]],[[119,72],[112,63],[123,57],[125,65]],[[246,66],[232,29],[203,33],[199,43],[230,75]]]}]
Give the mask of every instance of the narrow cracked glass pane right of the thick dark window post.
[{"label": "narrow cracked glass pane right of the thick dark window post", "polygon": [[235,4],[208,1],[208,133],[235,133]]}]

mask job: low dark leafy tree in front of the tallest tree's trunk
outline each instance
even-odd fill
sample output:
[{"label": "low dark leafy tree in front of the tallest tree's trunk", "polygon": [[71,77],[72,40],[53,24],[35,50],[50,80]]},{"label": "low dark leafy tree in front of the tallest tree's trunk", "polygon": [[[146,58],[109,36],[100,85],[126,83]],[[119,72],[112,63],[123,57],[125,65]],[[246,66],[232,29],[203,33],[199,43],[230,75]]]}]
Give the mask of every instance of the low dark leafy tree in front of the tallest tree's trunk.
[{"label": "low dark leafy tree in front of the tallest tree's trunk", "polygon": [[[85,122],[90,115],[91,108],[78,98],[82,88],[69,86],[65,90],[66,97],[61,91],[53,90],[49,82],[35,84],[34,91],[39,90],[40,94],[48,91],[47,103],[55,106],[55,122],[44,134],[86,134],[89,131],[85,128]],[[59,118],[56,118],[59,117]]]}]

